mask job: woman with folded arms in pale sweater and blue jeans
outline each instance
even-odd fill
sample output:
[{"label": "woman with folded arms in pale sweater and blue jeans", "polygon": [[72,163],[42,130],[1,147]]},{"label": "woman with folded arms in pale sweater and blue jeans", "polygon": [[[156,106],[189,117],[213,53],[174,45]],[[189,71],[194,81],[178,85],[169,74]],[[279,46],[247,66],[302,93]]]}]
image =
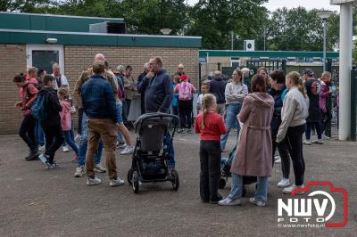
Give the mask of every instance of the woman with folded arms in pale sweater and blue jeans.
[{"label": "woman with folded arms in pale sweater and blue jeans", "polygon": [[220,139],[220,150],[223,151],[226,148],[229,131],[231,128],[237,129],[237,135],[239,134],[240,126],[237,121],[237,115],[239,114],[242,103],[245,100],[245,96],[248,94],[248,87],[243,83],[243,73],[241,70],[234,70],[232,74],[233,81],[229,82],[226,86],[226,118],[225,124],[227,133],[222,135]]}]

